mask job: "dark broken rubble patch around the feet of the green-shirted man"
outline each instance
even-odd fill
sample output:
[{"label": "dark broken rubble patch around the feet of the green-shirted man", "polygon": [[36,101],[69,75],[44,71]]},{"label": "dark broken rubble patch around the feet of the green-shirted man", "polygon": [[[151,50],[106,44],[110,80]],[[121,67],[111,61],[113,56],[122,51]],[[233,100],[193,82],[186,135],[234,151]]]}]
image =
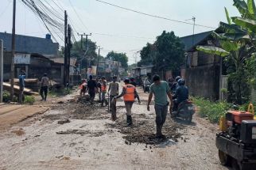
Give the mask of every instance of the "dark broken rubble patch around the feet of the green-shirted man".
[{"label": "dark broken rubble patch around the feet of the green-shirted man", "polygon": [[164,138],[156,138],[156,127],[155,123],[149,119],[138,119],[133,126],[127,127],[125,121],[118,120],[114,124],[107,124],[108,128],[115,128],[122,134],[124,139],[126,139],[126,144],[130,145],[131,143],[145,143],[147,145],[157,145],[162,142],[178,142],[183,134],[182,130],[184,126],[178,123],[173,122],[172,120],[167,120],[162,133],[165,134]]}]

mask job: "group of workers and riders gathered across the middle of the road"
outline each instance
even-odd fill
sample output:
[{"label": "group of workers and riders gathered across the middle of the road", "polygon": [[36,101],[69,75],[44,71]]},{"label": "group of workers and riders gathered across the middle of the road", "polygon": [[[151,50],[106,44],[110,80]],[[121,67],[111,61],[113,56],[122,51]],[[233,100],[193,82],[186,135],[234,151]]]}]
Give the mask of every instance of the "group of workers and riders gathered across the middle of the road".
[{"label": "group of workers and riders gathered across the middle of the road", "polygon": [[[141,104],[140,97],[136,90],[136,82],[133,78],[126,78],[122,86],[122,93],[119,92],[119,85],[117,82],[117,77],[113,77],[112,82],[107,85],[105,77],[94,79],[92,76],[89,80],[83,80],[80,85],[80,95],[83,96],[84,93],[88,92],[90,96],[91,104],[94,103],[95,94],[99,93],[99,102],[101,106],[104,104],[107,106],[111,104],[112,111],[115,111],[116,100],[123,97],[124,104],[126,106],[126,123],[128,126],[133,124],[132,119],[132,107],[136,98],[138,99],[138,104]],[[108,87],[107,87],[108,86]],[[143,89],[149,87],[149,99],[147,103],[147,110],[149,111],[149,105],[154,96],[154,109],[156,113],[156,124],[157,124],[157,138],[163,138],[164,135],[161,133],[161,129],[165,123],[166,115],[169,111],[172,112],[176,110],[178,105],[184,101],[188,100],[188,88],[184,85],[184,79],[182,77],[176,77],[176,79],[169,79],[168,82],[161,81],[160,77],[156,74],[153,76],[153,83],[150,84],[148,78],[143,81]],[[109,101],[106,99],[106,94],[109,96]],[[169,98],[169,100],[168,100]],[[114,106],[114,107],[112,107]],[[112,115],[113,120],[116,119],[116,115]]]}]

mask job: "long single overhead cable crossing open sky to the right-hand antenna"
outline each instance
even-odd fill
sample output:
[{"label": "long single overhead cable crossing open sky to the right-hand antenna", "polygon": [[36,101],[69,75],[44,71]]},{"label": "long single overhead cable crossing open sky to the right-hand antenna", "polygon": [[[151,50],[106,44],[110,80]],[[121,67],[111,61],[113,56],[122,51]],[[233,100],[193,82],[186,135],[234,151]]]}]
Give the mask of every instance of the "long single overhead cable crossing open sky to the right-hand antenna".
[{"label": "long single overhead cable crossing open sky to the right-hand antenna", "polygon": [[[69,1],[70,1],[70,0],[69,0]],[[122,7],[122,6],[117,6],[117,5],[114,5],[114,4],[112,4],[112,3],[104,2],[104,1],[101,1],[101,0],[95,0],[95,1],[101,2],[101,3],[103,3],[103,4],[107,4],[107,5],[109,5],[109,6],[114,6],[114,7],[117,7],[117,8],[119,8],[119,9],[125,9],[125,10],[128,10],[128,11],[134,12],[134,13],[140,13],[140,14],[145,15],[145,16],[148,16],[148,17],[160,18],[160,19],[163,19],[163,20],[178,22],[178,23],[182,23],[182,24],[186,24],[186,25],[194,25],[193,23],[190,23],[190,22],[178,21],[178,20],[173,20],[173,19],[167,18],[167,17],[161,17],[161,16],[149,14],[149,13],[143,13],[143,12],[138,11],[138,10],[135,10],[135,9],[129,9],[129,8]],[[196,25],[196,26],[204,27],[204,28],[213,28],[213,29],[215,29],[215,27],[211,27],[211,26],[207,26],[207,25]]]}]

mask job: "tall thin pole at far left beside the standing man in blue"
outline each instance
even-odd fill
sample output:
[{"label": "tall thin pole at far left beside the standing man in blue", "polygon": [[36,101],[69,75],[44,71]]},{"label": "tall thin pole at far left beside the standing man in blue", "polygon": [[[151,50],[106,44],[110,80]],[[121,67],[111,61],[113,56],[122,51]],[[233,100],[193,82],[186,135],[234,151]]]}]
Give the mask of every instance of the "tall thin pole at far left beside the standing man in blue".
[{"label": "tall thin pole at far left beside the standing man in blue", "polygon": [[11,101],[14,101],[15,20],[16,20],[16,0],[14,0],[14,9],[13,9],[12,59],[11,59],[11,65],[10,65],[10,100]]}]

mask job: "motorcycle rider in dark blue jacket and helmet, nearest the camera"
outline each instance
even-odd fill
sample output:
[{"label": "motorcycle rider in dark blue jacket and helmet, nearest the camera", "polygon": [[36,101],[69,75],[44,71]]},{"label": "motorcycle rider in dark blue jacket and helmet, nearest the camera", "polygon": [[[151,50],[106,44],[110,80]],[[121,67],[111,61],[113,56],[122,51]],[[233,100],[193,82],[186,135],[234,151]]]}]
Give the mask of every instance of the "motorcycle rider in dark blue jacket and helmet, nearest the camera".
[{"label": "motorcycle rider in dark blue jacket and helmet, nearest the camera", "polygon": [[175,98],[175,100],[173,100],[173,111],[178,109],[178,106],[181,102],[188,100],[188,87],[185,86],[185,81],[183,78],[178,80],[177,89],[173,97]]}]

